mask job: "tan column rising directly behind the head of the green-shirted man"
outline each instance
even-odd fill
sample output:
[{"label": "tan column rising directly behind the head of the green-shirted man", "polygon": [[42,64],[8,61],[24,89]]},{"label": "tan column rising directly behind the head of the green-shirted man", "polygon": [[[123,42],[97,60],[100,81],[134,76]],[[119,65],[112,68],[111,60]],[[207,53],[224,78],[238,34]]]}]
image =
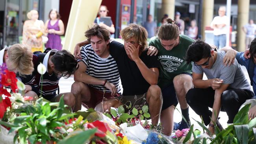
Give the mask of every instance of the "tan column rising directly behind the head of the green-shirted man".
[{"label": "tan column rising directly behind the head of the green-shirted man", "polygon": [[175,0],[162,0],[162,16],[167,14],[170,18],[174,20],[175,13]]}]

